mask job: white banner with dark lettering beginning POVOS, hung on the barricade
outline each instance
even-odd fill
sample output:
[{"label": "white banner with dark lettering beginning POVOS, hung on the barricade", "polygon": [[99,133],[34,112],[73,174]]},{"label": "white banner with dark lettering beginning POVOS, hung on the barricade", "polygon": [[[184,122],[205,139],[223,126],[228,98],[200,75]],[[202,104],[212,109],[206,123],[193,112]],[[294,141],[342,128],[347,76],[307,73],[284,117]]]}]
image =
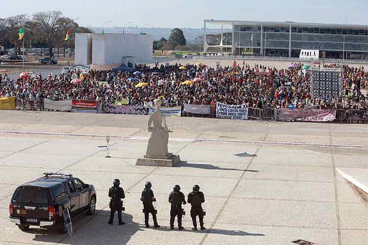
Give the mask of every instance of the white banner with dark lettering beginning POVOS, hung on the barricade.
[{"label": "white banner with dark lettering beginning POVOS, hung on the barricade", "polygon": [[216,102],[216,118],[224,119],[248,119],[248,105],[228,105]]}]

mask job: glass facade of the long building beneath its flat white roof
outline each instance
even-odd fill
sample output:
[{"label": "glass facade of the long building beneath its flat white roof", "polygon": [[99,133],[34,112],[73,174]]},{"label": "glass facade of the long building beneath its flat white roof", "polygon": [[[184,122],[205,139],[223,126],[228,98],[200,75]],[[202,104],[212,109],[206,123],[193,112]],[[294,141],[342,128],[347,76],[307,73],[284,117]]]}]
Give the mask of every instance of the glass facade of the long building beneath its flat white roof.
[{"label": "glass facade of the long building beneath its flat white roof", "polygon": [[342,58],[343,51],[347,58],[351,55],[367,59],[368,55],[368,28],[363,26],[335,28],[298,23],[234,25],[234,37],[232,32],[224,33],[222,43],[233,46],[237,51],[253,47],[257,50],[254,53],[259,55],[299,56],[301,49],[326,51],[330,58]]}]

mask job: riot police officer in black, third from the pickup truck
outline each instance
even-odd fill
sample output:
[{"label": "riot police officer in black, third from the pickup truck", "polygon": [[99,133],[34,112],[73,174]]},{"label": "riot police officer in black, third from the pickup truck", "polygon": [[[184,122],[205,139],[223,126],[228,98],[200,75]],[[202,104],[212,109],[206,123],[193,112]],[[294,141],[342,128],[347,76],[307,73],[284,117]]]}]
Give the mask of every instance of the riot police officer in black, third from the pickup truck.
[{"label": "riot police officer in black, third from the pickup truck", "polygon": [[169,195],[169,203],[171,203],[170,210],[170,229],[174,229],[175,216],[178,216],[178,227],[179,230],[183,230],[182,226],[182,204],[186,204],[183,192],[180,191],[180,185],[176,184],[174,190]]}]

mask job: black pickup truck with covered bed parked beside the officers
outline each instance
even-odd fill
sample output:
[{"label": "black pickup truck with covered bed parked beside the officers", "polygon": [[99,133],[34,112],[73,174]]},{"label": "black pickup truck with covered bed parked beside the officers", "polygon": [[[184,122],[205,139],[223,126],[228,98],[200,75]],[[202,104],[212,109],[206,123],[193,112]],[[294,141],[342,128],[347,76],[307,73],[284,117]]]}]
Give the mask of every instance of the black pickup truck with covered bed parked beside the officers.
[{"label": "black pickup truck with covered bed parked beside the officers", "polygon": [[75,217],[92,215],[95,208],[96,191],[92,184],[85,184],[71,174],[44,173],[44,177],[15,189],[9,219],[23,231],[34,225],[64,232],[64,209]]}]

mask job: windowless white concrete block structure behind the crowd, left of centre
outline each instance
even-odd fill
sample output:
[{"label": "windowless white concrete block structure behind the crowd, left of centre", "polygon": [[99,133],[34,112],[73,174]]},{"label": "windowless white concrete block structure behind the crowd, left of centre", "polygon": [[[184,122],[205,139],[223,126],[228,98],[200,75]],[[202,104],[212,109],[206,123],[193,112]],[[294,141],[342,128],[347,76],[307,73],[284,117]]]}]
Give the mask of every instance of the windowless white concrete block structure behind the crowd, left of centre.
[{"label": "windowless white concrete block structure behind the crowd, left of centre", "polygon": [[[87,64],[89,49],[86,33],[76,35],[75,63]],[[152,62],[153,37],[138,34],[93,33],[92,65],[122,63],[123,56],[133,56],[136,63]],[[86,54],[85,54],[86,53]]]}]

